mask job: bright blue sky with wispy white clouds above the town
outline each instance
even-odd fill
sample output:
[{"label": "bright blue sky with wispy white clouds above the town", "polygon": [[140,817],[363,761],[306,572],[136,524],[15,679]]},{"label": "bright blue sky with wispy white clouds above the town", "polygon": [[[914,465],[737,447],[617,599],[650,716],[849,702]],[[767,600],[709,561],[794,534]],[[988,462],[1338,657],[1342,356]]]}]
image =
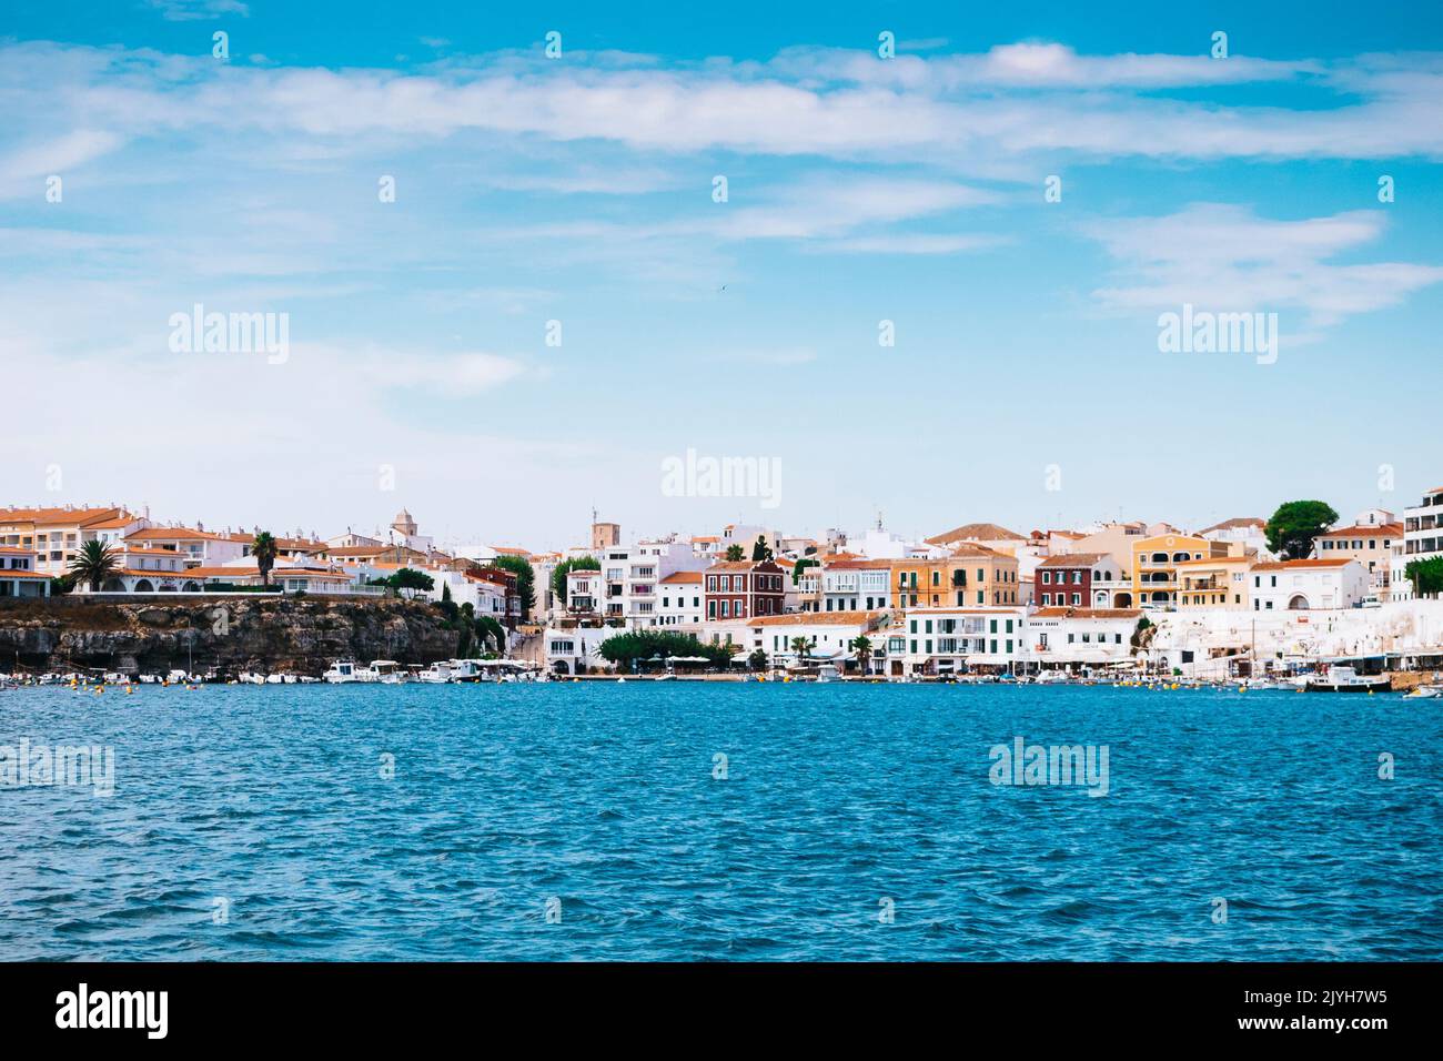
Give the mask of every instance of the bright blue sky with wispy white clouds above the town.
[{"label": "bright blue sky with wispy white clouds above the town", "polygon": [[[3,16],[0,498],[541,549],[1443,482],[1436,10],[297,7]],[[1159,352],[1185,302],[1277,362]],[[284,364],[173,352],[195,303],[287,313]],[[665,497],[687,449],[779,508]]]}]

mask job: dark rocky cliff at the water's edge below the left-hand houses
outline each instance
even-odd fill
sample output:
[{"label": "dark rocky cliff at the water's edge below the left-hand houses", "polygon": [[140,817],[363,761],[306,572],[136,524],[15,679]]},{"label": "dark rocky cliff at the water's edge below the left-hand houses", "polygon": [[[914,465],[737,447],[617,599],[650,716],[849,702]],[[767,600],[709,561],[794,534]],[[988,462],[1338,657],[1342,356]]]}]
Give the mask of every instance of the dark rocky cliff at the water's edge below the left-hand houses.
[{"label": "dark rocky cliff at the water's edge below the left-hand houses", "polygon": [[336,598],[189,598],[0,602],[0,671],[104,667],[123,673],[218,668],[320,674],[332,660],[431,663],[459,632],[426,602]]}]

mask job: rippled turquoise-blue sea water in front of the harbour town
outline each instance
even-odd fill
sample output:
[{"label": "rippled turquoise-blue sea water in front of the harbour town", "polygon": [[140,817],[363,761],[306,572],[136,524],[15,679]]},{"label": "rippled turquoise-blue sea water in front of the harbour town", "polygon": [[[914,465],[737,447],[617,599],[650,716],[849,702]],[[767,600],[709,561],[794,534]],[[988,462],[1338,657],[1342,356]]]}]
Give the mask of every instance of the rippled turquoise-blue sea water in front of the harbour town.
[{"label": "rippled turquoise-blue sea water in front of the harbour town", "polygon": [[[0,788],[0,947],[1439,959],[1439,703],[835,683],[0,693],[0,745],[115,751],[108,798]],[[1108,794],[993,784],[990,749],[1017,736],[1107,745]]]}]

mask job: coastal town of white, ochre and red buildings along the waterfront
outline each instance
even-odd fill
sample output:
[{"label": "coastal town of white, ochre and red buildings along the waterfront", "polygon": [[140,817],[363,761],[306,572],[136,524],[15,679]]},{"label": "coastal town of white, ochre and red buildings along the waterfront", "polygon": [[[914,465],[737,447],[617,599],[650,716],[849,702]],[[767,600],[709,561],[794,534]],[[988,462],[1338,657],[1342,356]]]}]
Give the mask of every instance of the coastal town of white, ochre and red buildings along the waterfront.
[{"label": "coastal town of white, ochre and red buildings along the waterfront", "polygon": [[[1247,515],[1201,528],[978,521],[919,541],[880,518],[823,537],[729,524],[626,541],[593,512],[584,544],[544,553],[442,549],[405,510],[385,530],[322,538],[123,505],[12,505],[0,508],[0,603],[403,596],[457,619],[449,665],[472,676],[1270,683],[1440,665],[1443,486],[1401,514],[1328,518],[1322,502],[1294,504],[1326,512],[1286,540]],[[385,663],[391,680],[407,677]],[[338,665],[355,664],[328,674]],[[424,673],[444,678],[444,664]]]}]

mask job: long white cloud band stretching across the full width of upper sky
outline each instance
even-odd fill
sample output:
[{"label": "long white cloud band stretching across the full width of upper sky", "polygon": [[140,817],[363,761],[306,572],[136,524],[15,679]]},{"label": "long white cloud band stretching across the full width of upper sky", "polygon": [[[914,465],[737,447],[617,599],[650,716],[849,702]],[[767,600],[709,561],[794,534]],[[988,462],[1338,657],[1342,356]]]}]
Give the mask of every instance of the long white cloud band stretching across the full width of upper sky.
[{"label": "long white cloud band stretching across the full width of upper sky", "polygon": [[[36,78],[69,72],[61,114],[139,136],[297,134],[359,149],[465,130],[609,141],[677,154],[704,150],[815,154],[954,169],[1000,157],[1076,152],[1163,159],[1394,157],[1443,154],[1433,55],[1384,62],[1264,61],[1203,55],[1082,56],[1062,45],[983,55],[899,56],[797,49],[771,64],[661,69],[649,56],[573,53],[567,64],[499,53],[429,74],[261,69],[120,49],[9,45],[0,78],[10,113],[35,104]],[[35,77],[27,77],[30,71]],[[1289,84],[1296,107],[1219,105],[1159,89]],[[49,98],[46,100],[49,101]],[[38,107],[30,107],[39,113]],[[53,107],[45,108],[48,114]],[[273,143],[270,150],[281,150]]]}]

